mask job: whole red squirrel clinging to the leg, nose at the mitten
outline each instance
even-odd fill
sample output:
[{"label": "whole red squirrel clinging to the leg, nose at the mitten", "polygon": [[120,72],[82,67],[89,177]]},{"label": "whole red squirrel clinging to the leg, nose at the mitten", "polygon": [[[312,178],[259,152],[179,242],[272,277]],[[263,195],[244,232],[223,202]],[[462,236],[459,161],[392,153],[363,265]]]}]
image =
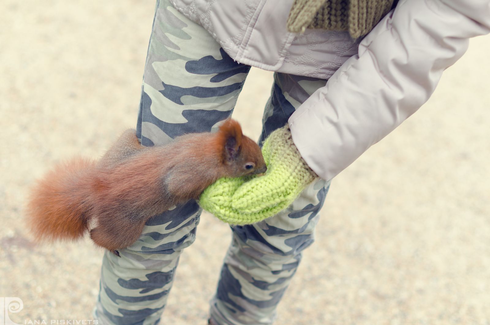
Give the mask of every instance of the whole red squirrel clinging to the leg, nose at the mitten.
[{"label": "whole red squirrel clinging to the leg, nose at the mitten", "polygon": [[232,119],[216,133],[153,147],[142,146],[129,129],[100,160],[73,158],[55,166],[32,189],[26,214],[37,239],[76,240],[95,221],[92,240],[119,256],[150,217],[197,199],[221,177],[265,171],[259,146]]}]

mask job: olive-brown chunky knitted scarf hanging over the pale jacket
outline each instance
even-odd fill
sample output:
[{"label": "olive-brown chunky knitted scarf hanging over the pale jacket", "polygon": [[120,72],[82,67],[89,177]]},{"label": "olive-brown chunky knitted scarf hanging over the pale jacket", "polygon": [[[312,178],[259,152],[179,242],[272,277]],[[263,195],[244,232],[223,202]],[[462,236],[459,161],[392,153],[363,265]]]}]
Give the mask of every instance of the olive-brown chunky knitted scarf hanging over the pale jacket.
[{"label": "olive-brown chunky knitted scarf hanging over the pale jacket", "polygon": [[304,32],[306,28],[349,31],[359,38],[371,31],[397,0],[294,0],[287,28]]}]

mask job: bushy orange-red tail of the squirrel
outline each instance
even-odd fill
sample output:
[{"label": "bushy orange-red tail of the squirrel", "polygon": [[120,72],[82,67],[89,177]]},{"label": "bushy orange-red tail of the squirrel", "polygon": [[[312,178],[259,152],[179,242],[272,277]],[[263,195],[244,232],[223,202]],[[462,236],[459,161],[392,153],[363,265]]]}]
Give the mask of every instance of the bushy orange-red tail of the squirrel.
[{"label": "bushy orange-red tail of the squirrel", "polygon": [[94,161],[74,158],[37,182],[26,215],[38,240],[75,240],[87,231],[94,168]]}]

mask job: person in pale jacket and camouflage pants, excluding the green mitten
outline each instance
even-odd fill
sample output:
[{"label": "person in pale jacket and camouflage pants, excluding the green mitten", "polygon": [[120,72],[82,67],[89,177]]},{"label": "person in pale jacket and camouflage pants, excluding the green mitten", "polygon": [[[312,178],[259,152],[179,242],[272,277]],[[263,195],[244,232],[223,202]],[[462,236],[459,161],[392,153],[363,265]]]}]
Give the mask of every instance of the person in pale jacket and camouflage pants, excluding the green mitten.
[{"label": "person in pale jacket and camouflage pants, excluding the green mitten", "polygon": [[[216,127],[231,115],[253,65],[276,72],[260,142],[289,124],[298,155],[319,176],[287,210],[232,227],[212,324],[273,322],[301,251],[313,242],[330,180],[427,101],[469,37],[490,31],[486,0],[401,0],[392,10],[379,1],[363,7],[365,16],[360,2],[157,1],[137,123],[142,145]],[[334,4],[345,9],[341,26],[330,24]],[[199,215],[195,201],[177,206],[149,219],[121,257],[105,254],[99,321],[159,321]]]}]

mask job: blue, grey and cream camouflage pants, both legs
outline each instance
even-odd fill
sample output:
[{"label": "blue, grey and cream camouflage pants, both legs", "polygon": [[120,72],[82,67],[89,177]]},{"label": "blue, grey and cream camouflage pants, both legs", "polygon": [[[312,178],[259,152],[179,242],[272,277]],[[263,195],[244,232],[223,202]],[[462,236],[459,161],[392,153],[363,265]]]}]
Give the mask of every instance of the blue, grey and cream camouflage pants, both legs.
[{"label": "blue, grey and cream camouflage pants, both legs", "polygon": [[[249,66],[233,61],[199,25],[157,2],[137,123],[145,146],[191,132],[211,131],[229,117]],[[263,115],[260,141],[324,80],[276,73]],[[248,226],[231,227],[210,317],[216,324],[271,324],[275,309],[313,242],[329,184],[318,180],[287,210]],[[101,324],[159,322],[182,250],[196,238],[201,210],[195,201],[147,222],[140,239],[103,258],[95,316]]]}]

